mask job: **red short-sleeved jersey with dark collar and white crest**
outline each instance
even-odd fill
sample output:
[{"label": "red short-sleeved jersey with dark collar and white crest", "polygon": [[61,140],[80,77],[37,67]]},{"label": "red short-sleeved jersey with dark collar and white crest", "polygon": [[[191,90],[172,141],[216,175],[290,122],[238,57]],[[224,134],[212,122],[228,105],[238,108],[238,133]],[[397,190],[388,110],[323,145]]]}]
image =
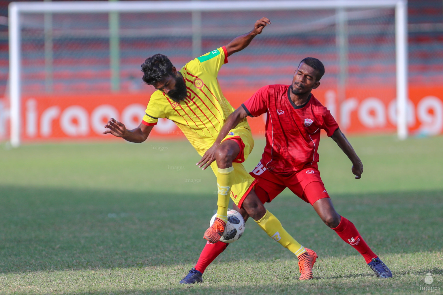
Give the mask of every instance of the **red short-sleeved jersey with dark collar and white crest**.
[{"label": "red short-sleeved jersey with dark collar and white crest", "polygon": [[338,129],[330,111],[312,94],[304,105],[296,106],[290,89],[290,85],[267,85],[241,105],[249,116],[267,113],[261,163],[282,175],[315,165],[319,161],[320,129],[328,136]]}]

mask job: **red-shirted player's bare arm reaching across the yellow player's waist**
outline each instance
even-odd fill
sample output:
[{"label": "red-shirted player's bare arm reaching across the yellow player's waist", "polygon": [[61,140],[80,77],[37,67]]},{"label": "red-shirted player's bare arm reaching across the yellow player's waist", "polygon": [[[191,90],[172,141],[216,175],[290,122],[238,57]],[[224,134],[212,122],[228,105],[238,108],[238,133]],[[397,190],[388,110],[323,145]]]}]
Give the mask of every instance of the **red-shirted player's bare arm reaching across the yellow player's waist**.
[{"label": "red-shirted player's bare arm reaching across the yellow player's waist", "polygon": [[215,161],[215,150],[220,145],[223,138],[225,138],[226,135],[228,135],[229,130],[237,126],[237,124],[240,123],[242,119],[245,119],[247,115],[248,114],[246,114],[245,109],[241,106],[237,108],[237,110],[233,111],[228,116],[228,119],[226,119],[225,124],[223,124],[223,126],[221,127],[221,130],[218,133],[218,136],[215,139],[214,144],[206,151],[202,159],[198,161],[197,164],[195,165],[198,165],[198,167],[203,166],[202,170],[208,168],[209,165],[211,165],[211,163]]}]

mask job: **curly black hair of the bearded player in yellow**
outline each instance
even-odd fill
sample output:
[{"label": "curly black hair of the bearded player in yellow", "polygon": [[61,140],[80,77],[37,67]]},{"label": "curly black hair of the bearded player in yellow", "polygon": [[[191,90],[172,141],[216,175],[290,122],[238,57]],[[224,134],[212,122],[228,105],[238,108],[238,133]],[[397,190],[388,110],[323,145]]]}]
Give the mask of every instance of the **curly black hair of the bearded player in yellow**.
[{"label": "curly black hair of the bearded player in yellow", "polygon": [[141,65],[143,72],[142,80],[148,84],[153,85],[160,80],[172,75],[172,63],[163,54],[154,54],[148,57]]}]

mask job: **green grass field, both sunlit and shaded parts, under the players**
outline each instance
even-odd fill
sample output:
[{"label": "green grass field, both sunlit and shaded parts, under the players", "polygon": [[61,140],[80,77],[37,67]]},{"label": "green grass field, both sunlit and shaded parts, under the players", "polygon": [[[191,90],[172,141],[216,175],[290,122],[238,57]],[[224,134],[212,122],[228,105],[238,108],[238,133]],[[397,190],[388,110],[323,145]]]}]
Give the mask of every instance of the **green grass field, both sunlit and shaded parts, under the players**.
[{"label": "green grass field, both sunlit and shaded parts, under the players", "polygon": [[[249,220],[203,284],[179,285],[205,244],[217,196],[215,176],[194,165],[188,142],[3,145],[0,294],[442,294],[443,137],[350,142],[361,180],[329,138],[320,171],[338,213],[393,279],[377,279],[309,204],[284,191],[266,207],[319,254],[314,280],[300,282],[296,257]],[[263,146],[256,140],[247,170]]]}]

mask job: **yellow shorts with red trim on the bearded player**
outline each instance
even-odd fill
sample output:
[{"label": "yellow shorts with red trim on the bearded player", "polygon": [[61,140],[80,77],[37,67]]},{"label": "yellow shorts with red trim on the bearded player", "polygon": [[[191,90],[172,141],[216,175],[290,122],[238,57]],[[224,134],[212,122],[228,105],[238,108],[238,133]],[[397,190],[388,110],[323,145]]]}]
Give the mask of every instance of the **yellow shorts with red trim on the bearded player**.
[{"label": "yellow shorts with red trim on the bearded player", "polygon": [[[237,158],[232,163],[234,168],[234,183],[231,186],[230,196],[234,203],[241,208],[241,204],[256,183],[255,178],[246,172],[245,167],[241,164],[251,153],[254,147],[254,139],[252,138],[251,130],[245,127],[231,129],[221,142],[228,139],[234,140],[240,146],[240,153],[238,153]],[[217,176],[218,167],[215,161],[212,162],[211,168],[215,176]]]}]

